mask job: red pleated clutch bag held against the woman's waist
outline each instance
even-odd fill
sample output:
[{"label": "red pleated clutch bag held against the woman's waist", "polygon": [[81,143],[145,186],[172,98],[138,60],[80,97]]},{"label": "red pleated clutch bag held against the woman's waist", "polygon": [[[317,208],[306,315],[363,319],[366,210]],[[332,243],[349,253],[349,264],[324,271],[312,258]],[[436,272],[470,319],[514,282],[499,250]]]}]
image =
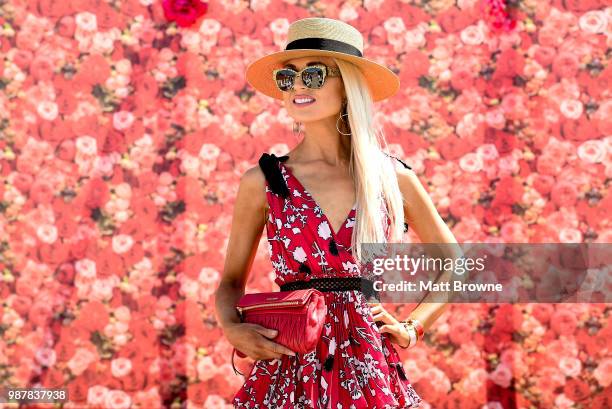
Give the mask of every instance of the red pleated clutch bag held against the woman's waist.
[{"label": "red pleated clutch bag held against the woman's waist", "polygon": [[[271,340],[300,354],[315,349],[327,315],[325,298],[315,288],[245,294],[236,309],[241,322],[277,330]],[[237,349],[235,352],[246,356]]]}]

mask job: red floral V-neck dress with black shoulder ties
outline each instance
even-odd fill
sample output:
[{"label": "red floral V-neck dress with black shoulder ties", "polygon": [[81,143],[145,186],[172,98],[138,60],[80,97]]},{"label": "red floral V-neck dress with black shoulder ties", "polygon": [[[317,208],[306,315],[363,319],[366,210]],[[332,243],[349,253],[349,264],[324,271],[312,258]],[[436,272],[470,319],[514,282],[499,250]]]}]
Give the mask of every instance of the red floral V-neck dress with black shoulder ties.
[{"label": "red floral V-neck dress with black shoulder ties", "polygon": [[[321,277],[359,277],[352,256],[353,206],[333,231],[321,208],[282,162],[264,154],[270,206],[268,247],[278,285]],[[402,164],[408,167],[402,162]],[[255,361],[233,398],[236,408],[417,408],[410,384],[387,334],[380,333],[362,292],[323,293],[328,314],[315,350]]]}]

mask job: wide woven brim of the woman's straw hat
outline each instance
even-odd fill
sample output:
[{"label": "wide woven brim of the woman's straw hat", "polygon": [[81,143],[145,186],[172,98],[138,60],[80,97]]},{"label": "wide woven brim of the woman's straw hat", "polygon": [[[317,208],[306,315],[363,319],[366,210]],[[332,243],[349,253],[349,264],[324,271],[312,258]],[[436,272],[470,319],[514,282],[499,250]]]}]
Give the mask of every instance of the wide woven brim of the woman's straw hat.
[{"label": "wide woven brim of the woman's straw hat", "polygon": [[372,100],[375,102],[395,95],[400,88],[398,76],[383,65],[367,58],[337,51],[313,49],[284,50],[255,60],[246,69],[246,80],[257,91],[282,100],[283,93],[272,79],[272,71],[279,68],[286,60],[317,55],[342,59],[358,66],[370,87]]}]

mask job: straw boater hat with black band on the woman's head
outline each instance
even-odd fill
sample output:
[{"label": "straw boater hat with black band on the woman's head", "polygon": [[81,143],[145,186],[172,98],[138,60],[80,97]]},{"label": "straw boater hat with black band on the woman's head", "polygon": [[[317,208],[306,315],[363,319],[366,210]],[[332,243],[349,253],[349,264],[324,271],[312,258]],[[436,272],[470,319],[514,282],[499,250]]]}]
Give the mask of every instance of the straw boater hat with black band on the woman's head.
[{"label": "straw boater hat with black band on the woman's head", "polygon": [[246,70],[247,82],[263,94],[282,100],[283,93],[276,87],[272,71],[287,60],[317,55],[339,58],[358,66],[374,101],[388,98],[399,90],[400,81],[393,71],[363,58],[363,36],[359,30],[343,21],[325,17],[294,21],[289,26],[285,49],[252,62]]}]

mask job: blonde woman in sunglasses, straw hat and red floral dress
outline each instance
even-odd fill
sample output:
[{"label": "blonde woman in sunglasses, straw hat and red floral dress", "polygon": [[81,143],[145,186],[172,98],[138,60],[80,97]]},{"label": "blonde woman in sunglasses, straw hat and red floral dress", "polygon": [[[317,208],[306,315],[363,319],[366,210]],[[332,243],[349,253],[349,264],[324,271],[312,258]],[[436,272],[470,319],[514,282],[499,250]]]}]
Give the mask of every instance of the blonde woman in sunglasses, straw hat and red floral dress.
[{"label": "blonde woman in sunglasses, straw hat and red floral dress", "polygon": [[319,345],[303,355],[275,343],[274,330],[240,323],[234,308],[264,225],[281,291],[360,277],[358,243],[401,242],[405,217],[423,242],[454,242],[417,176],[383,153],[373,129],[372,102],[397,92],[397,76],[362,57],[361,34],[344,22],[306,18],[288,34],[284,51],[247,69],[255,89],[282,100],[304,125],[304,138],[287,155],[263,154],[240,181],[216,307],[229,342],[256,361],[233,404],[418,407],[393,344],[413,346],[445,304],[419,304],[412,321],[401,322],[363,288],[326,291]]}]

